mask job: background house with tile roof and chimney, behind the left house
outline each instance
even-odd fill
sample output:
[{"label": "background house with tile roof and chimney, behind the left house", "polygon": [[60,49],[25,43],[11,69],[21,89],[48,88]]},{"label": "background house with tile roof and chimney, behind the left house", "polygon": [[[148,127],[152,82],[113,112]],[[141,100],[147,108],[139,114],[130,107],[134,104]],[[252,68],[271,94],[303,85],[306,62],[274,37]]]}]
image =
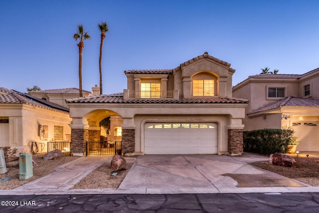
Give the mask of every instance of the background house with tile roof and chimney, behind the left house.
[{"label": "background house with tile roof and chimney, behind the left house", "polygon": [[[99,87],[97,88],[99,89]],[[93,89],[93,92],[95,92],[94,87],[92,89]],[[80,91],[78,88],[63,88],[63,89],[47,89],[47,90],[30,91],[28,92],[28,94],[34,97],[43,99],[45,101],[50,101],[68,108],[68,105],[65,103],[65,99],[79,97]],[[90,96],[90,95],[92,95],[90,91],[83,90],[83,97]]]}]

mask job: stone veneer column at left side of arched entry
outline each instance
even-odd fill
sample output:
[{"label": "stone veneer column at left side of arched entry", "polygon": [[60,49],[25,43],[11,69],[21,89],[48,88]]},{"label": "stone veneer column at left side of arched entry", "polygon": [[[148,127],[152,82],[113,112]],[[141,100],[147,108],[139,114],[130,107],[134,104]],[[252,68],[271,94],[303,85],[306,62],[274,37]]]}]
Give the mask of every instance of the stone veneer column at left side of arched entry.
[{"label": "stone veneer column at left side of arched entry", "polygon": [[85,142],[88,140],[88,129],[71,129],[71,153],[74,156],[85,156]]}]

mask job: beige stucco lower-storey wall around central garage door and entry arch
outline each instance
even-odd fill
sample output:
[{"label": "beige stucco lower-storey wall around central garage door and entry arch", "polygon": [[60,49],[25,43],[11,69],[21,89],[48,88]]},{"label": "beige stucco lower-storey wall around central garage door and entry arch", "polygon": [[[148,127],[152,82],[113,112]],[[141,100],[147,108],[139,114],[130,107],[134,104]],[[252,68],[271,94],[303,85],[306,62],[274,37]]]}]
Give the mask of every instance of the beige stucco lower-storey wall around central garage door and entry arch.
[{"label": "beige stucco lower-storey wall around central garage door and entry arch", "polygon": [[[145,122],[217,122],[219,154],[227,152],[227,129],[242,129],[246,104],[79,104],[71,103],[72,128],[89,128],[88,120],[101,121],[116,113],[122,128],[135,129],[136,152],[144,151]],[[98,113],[99,112],[99,113]],[[103,114],[104,113],[104,114]],[[103,114],[103,115],[101,115]]]}]

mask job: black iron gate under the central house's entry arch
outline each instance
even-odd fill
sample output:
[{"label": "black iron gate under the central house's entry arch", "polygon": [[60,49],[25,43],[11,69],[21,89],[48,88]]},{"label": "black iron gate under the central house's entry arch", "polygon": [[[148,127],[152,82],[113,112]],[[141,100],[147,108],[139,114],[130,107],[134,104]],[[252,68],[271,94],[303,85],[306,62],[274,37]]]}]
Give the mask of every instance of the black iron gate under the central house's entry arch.
[{"label": "black iron gate under the central house's entry arch", "polygon": [[86,155],[122,155],[121,141],[86,142]]}]

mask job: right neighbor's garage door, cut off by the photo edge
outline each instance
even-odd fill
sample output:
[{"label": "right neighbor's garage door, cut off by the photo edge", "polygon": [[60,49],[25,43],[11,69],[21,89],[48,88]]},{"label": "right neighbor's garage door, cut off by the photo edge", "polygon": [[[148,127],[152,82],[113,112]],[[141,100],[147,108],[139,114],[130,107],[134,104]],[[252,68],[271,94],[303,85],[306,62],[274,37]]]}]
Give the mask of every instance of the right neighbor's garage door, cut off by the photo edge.
[{"label": "right neighbor's garage door, cut off by the photo edge", "polygon": [[295,136],[299,138],[298,151],[319,151],[319,129],[314,122],[294,122]]}]

